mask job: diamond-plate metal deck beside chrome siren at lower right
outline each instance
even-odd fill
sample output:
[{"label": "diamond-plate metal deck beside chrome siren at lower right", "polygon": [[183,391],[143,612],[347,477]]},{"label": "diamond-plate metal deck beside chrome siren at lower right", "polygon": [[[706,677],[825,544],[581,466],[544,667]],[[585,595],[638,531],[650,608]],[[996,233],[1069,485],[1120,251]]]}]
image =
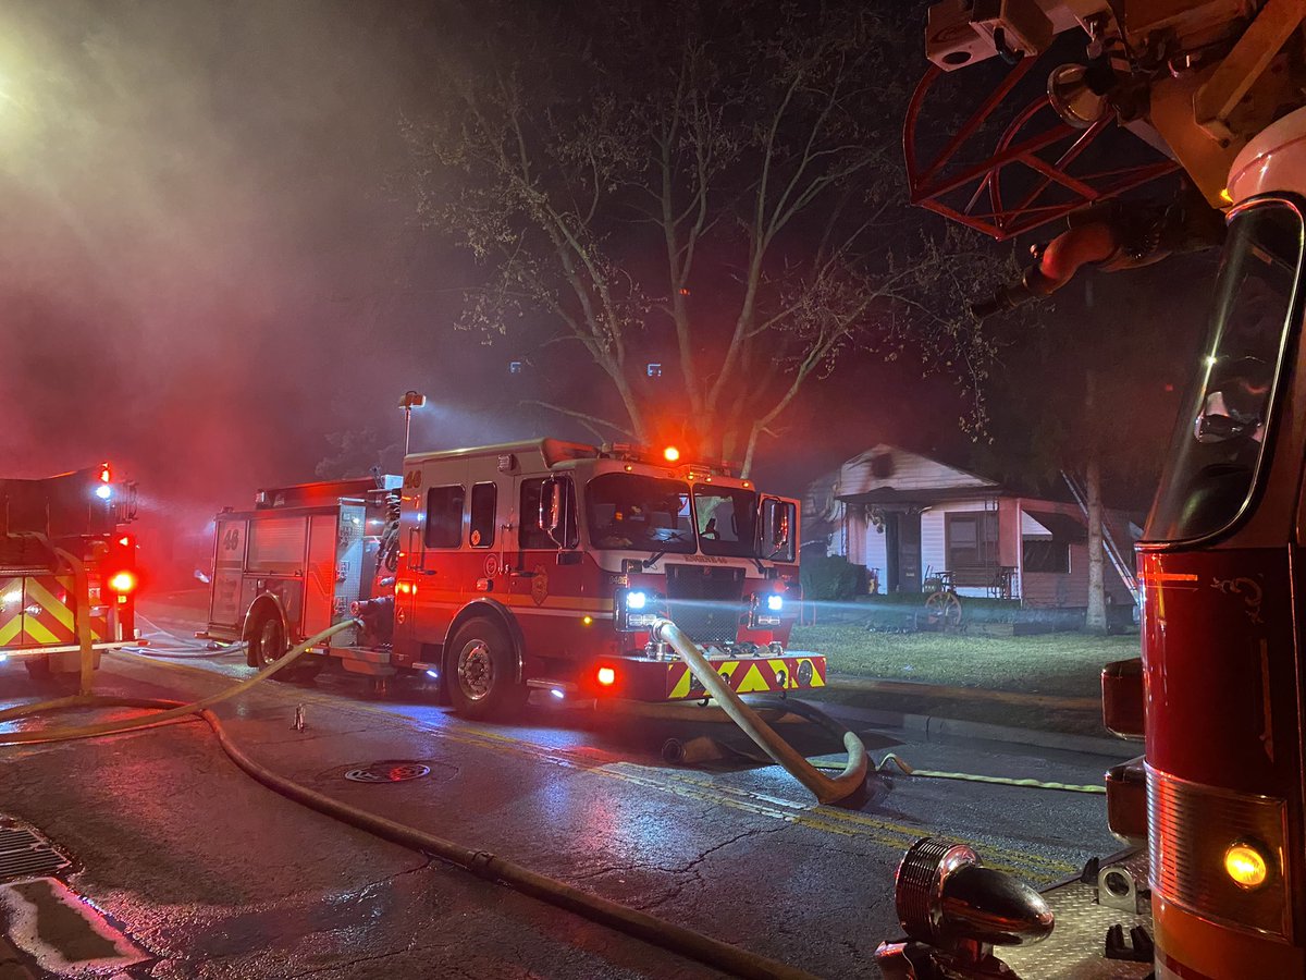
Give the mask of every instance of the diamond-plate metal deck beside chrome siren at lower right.
[{"label": "diamond-plate metal deck beside chrome siren at lower right", "polygon": [[[1147,852],[1131,855],[1114,865],[1128,868],[1135,881],[1147,882]],[[1106,865],[1104,865],[1105,868]],[[1152,963],[1128,963],[1106,959],[1106,930],[1123,925],[1126,934],[1135,925],[1152,929],[1152,907],[1145,904],[1141,915],[1130,915],[1117,908],[1100,906],[1096,889],[1077,878],[1054,886],[1043,892],[1057,916],[1053,934],[1033,946],[1010,946],[994,950],[1020,980],[1141,980],[1152,972]]]}]

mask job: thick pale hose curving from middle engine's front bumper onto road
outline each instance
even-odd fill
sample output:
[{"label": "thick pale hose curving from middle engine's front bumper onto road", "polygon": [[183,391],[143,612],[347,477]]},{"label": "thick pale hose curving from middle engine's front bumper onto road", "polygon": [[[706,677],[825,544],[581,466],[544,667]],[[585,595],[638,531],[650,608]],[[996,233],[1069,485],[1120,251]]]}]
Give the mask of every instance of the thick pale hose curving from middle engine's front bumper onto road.
[{"label": "thick pale hose curving from middle engine's front bumper onto road", "polygon": [[763,721],[756,711],[743,703],[743,699],[721,679],[708,659],[703,656],[703,651],[680,631],[679,626],[670,619],[658,619],[653,623],[650,632],[656,642],[671,644],[671,648],[690,665],[690,670],[699,678],[707,693],[716,698],[744,734],[774,759],[776,764],[782,766],[786,772],[807,787],[818,801],[823,804],[838,802],[866,785],[866,746],[853,732],[842,733],[844,747],[848,750],[848,763],[844,766],[844,771],[835,777],[827,776],[807,762],[802,753],[776,734],[776,730]]}]

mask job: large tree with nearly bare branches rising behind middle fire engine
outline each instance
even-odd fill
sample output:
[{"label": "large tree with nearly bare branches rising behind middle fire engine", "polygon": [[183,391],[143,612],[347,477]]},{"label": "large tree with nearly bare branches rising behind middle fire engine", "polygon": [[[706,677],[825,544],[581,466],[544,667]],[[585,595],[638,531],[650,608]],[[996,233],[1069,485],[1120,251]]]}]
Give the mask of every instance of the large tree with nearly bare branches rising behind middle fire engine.
[{"label": "large tree with nearly bare branches rising behind middle fire engine", "polygon": [[904,214],[916,31],[870,7],[627,3],[449,30],[445,105],[406,136],[421,218],[487,269],[461,325],[579,345],[622,417],[549,408],[746,473],[853,348],[953,372],[982,426],[993,351],[961,299],[991,255]]}]

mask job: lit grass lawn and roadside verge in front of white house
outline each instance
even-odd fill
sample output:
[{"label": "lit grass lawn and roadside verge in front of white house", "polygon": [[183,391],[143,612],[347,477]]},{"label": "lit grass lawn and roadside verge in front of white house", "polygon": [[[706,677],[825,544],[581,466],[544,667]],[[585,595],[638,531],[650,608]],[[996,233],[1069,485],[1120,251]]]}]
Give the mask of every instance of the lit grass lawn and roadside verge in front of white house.
[{"label": "lit grass lawn and roadside verge in front of white house", "polygon": [[[794,649],[824,653],[833,674],[1094,699],[1101,696],[1102,666],[1139,653],[1138,635],[889,634],[871,632],[865,626],[852,623],[795,627],[790,645]],[[1050,710],[982,699],[861,691],[829,691],[828,696],[887,711],[1106,734],[1101,727],[1100,710]]]}]

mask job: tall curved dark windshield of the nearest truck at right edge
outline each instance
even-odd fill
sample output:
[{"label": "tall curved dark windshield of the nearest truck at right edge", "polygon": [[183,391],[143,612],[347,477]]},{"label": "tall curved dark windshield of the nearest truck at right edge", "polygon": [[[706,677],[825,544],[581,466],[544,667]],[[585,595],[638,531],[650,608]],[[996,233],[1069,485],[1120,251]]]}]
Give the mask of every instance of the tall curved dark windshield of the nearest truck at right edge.
[{"label": "tall curved dark windshield of the nearest truck at right edge", "polygon": [[1290,204],[1254,204],[1229,222],[1211,331],[1145,540],[1215,534],[1251,499],[1301,261],[1302,217]]}]

